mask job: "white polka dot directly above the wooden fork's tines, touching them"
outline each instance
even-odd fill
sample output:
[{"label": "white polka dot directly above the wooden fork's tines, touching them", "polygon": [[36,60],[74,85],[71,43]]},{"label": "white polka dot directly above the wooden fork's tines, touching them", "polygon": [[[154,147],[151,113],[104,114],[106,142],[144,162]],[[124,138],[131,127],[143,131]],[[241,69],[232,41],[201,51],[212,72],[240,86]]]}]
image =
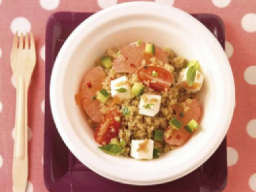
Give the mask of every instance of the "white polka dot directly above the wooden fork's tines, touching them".
[{"label": "white polka dot directly above the wooden fork's tines, touching them", "polygon": [[15,34],[16,31],[19,31],[19,34],[29,33],[31,30],[31,24],[29,20],[24,17],[16,17],[12,20],[11,30],[13,34]]}]

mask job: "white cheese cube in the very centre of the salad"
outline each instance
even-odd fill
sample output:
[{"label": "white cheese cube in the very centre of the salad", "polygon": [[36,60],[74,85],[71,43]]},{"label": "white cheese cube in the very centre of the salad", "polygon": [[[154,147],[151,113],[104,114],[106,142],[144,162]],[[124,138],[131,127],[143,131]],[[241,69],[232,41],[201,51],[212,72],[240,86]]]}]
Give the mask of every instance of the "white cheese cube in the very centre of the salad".
[{"label": "white cheese cube in the very centre of the salad", "polygon": [[153,94],[143,94],[140,97],[140,115],[155,116],[161,106],[161,96]]}]

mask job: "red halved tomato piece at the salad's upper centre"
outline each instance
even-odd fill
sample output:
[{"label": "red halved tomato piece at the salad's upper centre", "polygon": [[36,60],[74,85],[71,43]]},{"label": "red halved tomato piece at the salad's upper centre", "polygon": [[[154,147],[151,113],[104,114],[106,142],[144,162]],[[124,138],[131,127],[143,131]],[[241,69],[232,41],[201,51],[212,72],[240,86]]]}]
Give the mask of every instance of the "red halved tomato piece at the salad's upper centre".
[{"label": "red halved tomato piece at the salad's upper centre", "polygon": [[[157,76],[153,76],[153,71],[156,72]],[[173,76],[168,70],[161,67],[148,66],[147,68],[141,67],[137,71],[138,78],[140,81],[156,91],[163,91],[165,88],[170,88],[173,83]]]}]

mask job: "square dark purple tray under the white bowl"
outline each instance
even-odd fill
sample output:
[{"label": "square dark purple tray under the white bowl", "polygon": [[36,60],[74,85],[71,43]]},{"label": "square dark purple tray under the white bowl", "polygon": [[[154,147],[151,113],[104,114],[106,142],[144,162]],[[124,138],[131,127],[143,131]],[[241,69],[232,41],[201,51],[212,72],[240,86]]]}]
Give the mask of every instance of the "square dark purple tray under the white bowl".
[{"label": "square dark purple tray under the white bowl", "polygon": [[[51,192],[219,192],[227,185],[226,138],[214,154],[188,175],[156,186],[131,186],[101,177],[80,163],[68,150],[52,119],[49,84],[52,67],[61,46],[70,33],[92,13],[58,12],[47,21],[45,36],[45,131],[44,182]],[[225,29],[220,17],[194,14],[225,49]]]}]

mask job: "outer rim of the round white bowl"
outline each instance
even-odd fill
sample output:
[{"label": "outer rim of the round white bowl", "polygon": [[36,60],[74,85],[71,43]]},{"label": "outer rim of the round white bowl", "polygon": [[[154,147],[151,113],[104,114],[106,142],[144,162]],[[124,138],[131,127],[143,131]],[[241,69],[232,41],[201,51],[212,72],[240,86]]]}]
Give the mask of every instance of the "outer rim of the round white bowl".
[{"label": "outer rim of the round white bowl", "polygon": [[[218,132],[218,138],[216,137],[216,140],[213,142],[214,145],[212,144],[209,150],[207,150],[207,152],[205,152],[204,154],[203,153],[199,154],[198,161],[195,161],[193,164],[190,164],[190,167],[186,166],[186,168],[184,168],[182,171],[179,172],[179,175],[174,175],[174,176],[172,175],[172,177],[166,176],[166,175],[159,177],[158,175],[158,177],[153,180],[136,180],[135,181],[135,180],[132,180],[131,178],[125,180],[124,179],[125,177],[123,178],[116,177],[116,175],[113,173],[107,173],[106,170],[102,171],[102,169],[95,166],[95,164],[93,164],[92,161],[88,161],[88,159],[90,158],[88,158],[87,160],[84,159],[81,156],[81,153],[79,152],[79,147],[77,147],[77,146],[83,145],[83,143],[78,139],[75,132],[70,132],[70,130],[68,131],[68,129],[65,128],[65,126],[63,126],[63,125],[69,125],[68,121],[67,120],[63,121],[63,118],[61,118],[61,120],[59,118],[61,113],[61,106],[58,104],[58,93],[56,93],[55,91],[57,90],[56,88],[58,86],[57,82],[60,74],[60,65],[63,66],[63,62],[65,62],[65,60],[63,60],[63,58],[65,58],[64,55],[67,52],[73,52],[78,45],[78,42],[75,41],[76,36],[79,35],[81,31],[83,31],[84,28],[86,28],[88,25],[92,25],[94,20],[97,20],[100,18],[101,23],[104,22],[104,19],[102,18],[104,18],[104,15],[107,15],[109,12],[115,12],[116,10],[125,10],[125,12],[127,13],[134,14],[131,11],[129,11],[129,9],[132,9],[136,6],[145,7],[148,9],[159,8],[166,12],[167,11],[172,12],[172,14],[178,14],[180,17],[182,17],[182,19],[192,22],[193,24],[195,24],[197,28],[200,29],[199,31],[202,31],[201,33],[204,33],[205,37],[207,37],[207,40],[209,40],[209,46],[211,46],[212,49],[216,51],[216,54],[218,54],[218,57],[221,58],[221,60],[225,61],[223,63],[229,64],[227,56],[223,51],[221,45],[219,44],[218,40],[216,40],[216,38],[211,34],[211,32],[207,28],[205,28],[205,26],[202,23],[200,23],[198,20],[193,18],[188,13],[183,12],[182,10],[179,10],[172,6],[166,6],[164,4],[153,3],[153,2],[139,1],[139,2],[117,4],[115,6],[101,10],[100,12],[97,12],[91,17],[89,17],[88,19],[84,20],[67,38],[65,44],[63,44],[63,46],[60,49],[60,52],[58,53],[58,56],[54,63],[54,67],[52,69],[51,83],[50,83],[50,104],[52,109],[52,116],[56,124],[56,127],[58,129],[58,132],[60,133],[61,138],[63,139],[63,141],[65,141],[65,144],[67,145],[68,149],[74,154],[74,156],[76,156],[77,159],[79,159],[79,161],[81,161],[83,164],[86,164],[86,166],[88,166],[88,168],[93,170],[93,172],[99,173],[99,175],[102,175],[108,179],[115,180],[117,182],[122,182],[125,184],[133,184],[133,185],[161,184],[164,182],[169,182],[170,180],[175,180],[180,177],[183,177],[184,175],[198,168],[198,166],[200,166],[202,163],[207,161],[209,157],[211,157],[211,155],[219,147],[221,141],[227,134],[228,127],[232,120],[232,115],[234,113],[234,106],[235,106],[234,77],[232,75],[232,70],[230,65],[223,65],[223,67],[221,67],[221,70],[225,71],[225,75],[227,76],[225,79],[227,79],[228,81],[227,84],[229,85],[224,90],[224,92],[227,93],[227,96],[229,96],[229,100],[227,101],[229,108],[226,109],[227,113],[223,115],[225,116],[225,120],[226,120],[226,122],[222,122],[223,131]],[[115,16],[113,17],[117,17],[117,15],[115,14]],[[100,25],[100,24],[96,24],[96,25]],[[72,46],[70,46],[71,44]],[[71,140],[70,138],[77,138],[76,144],[74,143],[74,139]]]}]

